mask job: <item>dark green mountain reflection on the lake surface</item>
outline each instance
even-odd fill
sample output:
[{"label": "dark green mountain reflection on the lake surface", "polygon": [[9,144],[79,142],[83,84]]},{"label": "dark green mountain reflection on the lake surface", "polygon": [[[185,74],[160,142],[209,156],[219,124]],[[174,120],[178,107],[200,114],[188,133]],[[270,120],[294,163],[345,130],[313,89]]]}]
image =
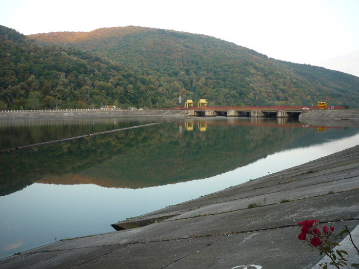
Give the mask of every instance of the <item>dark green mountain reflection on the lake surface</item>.
[{"label": "dark green mountain reflection on the lake surface", "polygon": [[[161,118],[42,121],[23,126],[46,137],[71,137],[107,131]],[[279,122],[278,122],[279,121]],[[113,122],[117,124],[114,125]],[[118,123],[121,122],[122,124]],[[64,123],[63,125],[61,123]],[[90,124],[91,123],[91,124]],[[34,127],[35,126],[35,127]],[[78,128],[76,128],[78,127]],[[16,128],[19,128],[17,125]],[[35,128],[36,131],[33,131]],[[356,128],[303,127],[293,119],[195,118],[161,125],[79,138],[48,146],[0,154],[0,195],[32,184],[96,184],[112,188],[145,188],[202,179],[243,167],[278,151],[307,147],[358,132]],[[45,137],[39,134],[39,137]],[[58,139],[56,137],[55,139]],[[34,139],[32,139],[34,141]],[[295,165],[295,163],[293,163]],[[21,169],[19,169],[21,168]]]}]

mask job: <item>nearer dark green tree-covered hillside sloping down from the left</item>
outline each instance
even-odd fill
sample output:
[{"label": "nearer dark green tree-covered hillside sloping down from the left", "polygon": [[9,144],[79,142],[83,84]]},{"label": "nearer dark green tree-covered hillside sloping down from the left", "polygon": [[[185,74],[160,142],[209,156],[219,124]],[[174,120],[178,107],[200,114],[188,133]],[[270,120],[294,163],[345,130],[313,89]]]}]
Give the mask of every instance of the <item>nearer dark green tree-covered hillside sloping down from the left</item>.
[{"label": "nearer dark green tree-covered hillside sloping down from the left", "polygon": [[0,27],[0,48],[0,110],[82,109],[113,104],[150,108],[161,96],[156,80],[141,70],[90,52],[41,47],[6,27]]}]

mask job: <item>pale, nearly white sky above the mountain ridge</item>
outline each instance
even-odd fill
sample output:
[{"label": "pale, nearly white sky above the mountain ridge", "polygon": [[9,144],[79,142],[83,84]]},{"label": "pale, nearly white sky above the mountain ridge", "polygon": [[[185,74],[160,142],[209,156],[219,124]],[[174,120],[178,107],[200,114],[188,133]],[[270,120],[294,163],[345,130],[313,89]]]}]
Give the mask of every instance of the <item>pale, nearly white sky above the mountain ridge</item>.
[{"label": "pale, nearly white sky above the mountain ridge", "polygon": [[0,0],[23,34],[142,26],[205,34],[359,76],[359,0]]}]

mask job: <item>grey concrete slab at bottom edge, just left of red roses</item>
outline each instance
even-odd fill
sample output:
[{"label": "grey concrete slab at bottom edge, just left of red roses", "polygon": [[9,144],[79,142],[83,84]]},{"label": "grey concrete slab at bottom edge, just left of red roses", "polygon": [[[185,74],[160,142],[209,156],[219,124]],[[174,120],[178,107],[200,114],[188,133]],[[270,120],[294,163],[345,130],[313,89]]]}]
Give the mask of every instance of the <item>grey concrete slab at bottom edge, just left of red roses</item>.
[{"label": "grey concrete slab at bottom edge, just left of red roses", "polygon": [[320,256],[296,237],[297,231],[289,228],[227,235],[168,268],[311,268]]}]

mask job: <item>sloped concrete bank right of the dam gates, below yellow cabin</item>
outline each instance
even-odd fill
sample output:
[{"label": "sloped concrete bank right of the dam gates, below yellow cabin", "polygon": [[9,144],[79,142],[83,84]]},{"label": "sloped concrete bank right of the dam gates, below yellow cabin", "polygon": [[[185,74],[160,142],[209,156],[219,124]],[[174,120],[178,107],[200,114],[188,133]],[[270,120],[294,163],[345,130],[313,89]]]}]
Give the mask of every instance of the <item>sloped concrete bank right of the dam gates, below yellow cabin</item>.
[{"label": "sloped concrete bank right of the dam gates, below yellow cabin", "polygon": [[343,110],[304,110],[299,116],[300,120],[304,119],[332,119],[332,120],[359,120],[358,109]]}]

